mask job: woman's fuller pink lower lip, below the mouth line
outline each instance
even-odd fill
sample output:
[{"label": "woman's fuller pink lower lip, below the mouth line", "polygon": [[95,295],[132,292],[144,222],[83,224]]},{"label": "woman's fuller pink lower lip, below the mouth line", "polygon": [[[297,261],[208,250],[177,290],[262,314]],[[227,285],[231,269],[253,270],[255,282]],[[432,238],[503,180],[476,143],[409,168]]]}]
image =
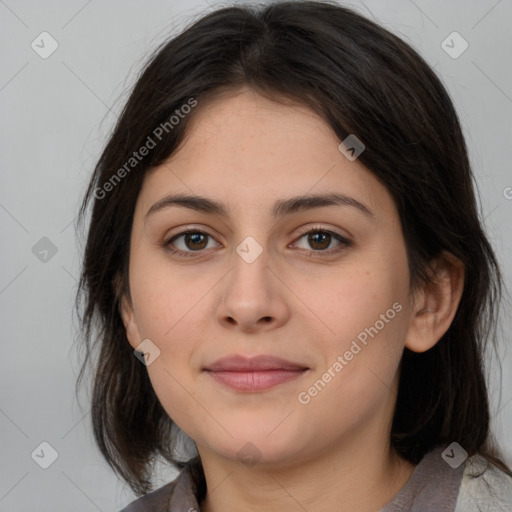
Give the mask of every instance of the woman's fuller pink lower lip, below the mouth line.
[{"label": "woman's fuller pink lower lip, below the mouth line", "polygon": [[273,388],[278,384],[294,380],[307,370],[262,370],[253,372],[212,372],[208,371],[216,381],[238,391],[254,392]]}]

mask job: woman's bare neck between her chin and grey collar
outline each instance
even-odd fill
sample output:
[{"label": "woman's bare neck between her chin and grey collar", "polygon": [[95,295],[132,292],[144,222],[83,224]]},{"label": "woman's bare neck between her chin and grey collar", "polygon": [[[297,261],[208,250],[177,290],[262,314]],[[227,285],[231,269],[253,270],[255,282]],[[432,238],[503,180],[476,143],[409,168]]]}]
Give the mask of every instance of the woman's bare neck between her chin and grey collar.
[{"label": "woman's bare neck between her chin and grey collar", "polygon": [[389,443],[344,443],[316,458],[252,467],[200,449],[208,492],[205,512],[322,510],[377,512],[405,485],[414,465]]}]

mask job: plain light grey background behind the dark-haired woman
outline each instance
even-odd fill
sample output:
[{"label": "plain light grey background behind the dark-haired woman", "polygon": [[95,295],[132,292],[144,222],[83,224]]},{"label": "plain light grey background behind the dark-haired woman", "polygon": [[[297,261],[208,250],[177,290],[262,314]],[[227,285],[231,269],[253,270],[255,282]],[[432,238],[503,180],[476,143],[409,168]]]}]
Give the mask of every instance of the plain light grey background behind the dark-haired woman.
[{"label": "plain light grey background behind the dark-haired woman", "polygon": [[[183,23],[219,5],[0,0],[0,511],[115,511],[133,499],[92,442],[86,398],[84,410],[74,398],[72,303],[80,246],[73,221],[124,91],[145,56]],[[448,87],[477,173],[485,224],[510,288],[511,1],[349,5],[412,44]],[[59,44],[47,59],[31,48],[43,31]],[[441,46],[453,31],[469,44],[457,59]],[[46,262],[32,252],[43,237],[57,248]],[[505,316],[502,340],[508,344],[511,327]],[[495,379],[495,365],[492,372],[493,427],[511,463],[510,350],[503,349],[501,363],[502,383]],[[31,458],[42,441],[59,454],[46,470]],[[163,471],[158,482],[172,476]]]}]

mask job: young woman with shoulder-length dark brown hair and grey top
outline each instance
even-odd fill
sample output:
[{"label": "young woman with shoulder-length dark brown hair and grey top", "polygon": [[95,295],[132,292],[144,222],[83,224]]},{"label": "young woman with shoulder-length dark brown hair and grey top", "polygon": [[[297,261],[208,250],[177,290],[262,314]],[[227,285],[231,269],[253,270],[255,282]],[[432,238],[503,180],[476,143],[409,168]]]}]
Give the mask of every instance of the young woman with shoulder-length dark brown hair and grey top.
[{"label": "young woman with shoulder-length dark brown hair and grey top", "polygon": [[[145,495],[125,511],[512,510],[482,368],[501,278],[407,44],[329,3],[203,17],[141,74],[90,203],[93,425]],[[159,456],[181,473],[148,494]]]}]

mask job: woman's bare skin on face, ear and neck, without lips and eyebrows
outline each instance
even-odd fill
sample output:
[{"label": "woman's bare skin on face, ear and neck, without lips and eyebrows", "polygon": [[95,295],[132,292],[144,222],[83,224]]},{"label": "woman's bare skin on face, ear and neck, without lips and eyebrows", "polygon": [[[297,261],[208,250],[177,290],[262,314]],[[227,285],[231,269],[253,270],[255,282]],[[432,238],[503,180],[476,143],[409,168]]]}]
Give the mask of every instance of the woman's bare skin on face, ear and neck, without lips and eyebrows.
[{"label": "woman's bare skin on face, ear and neck, without lips and eyebrows", "polygon": [[[145,177],[131,234],[131,301],[121,313],[133,348],[150,339],[160,350],[147,371],[201,455],[209,489],[201,510],[377,511],[414,470],[389,442],[403,349],[428,350],[448,329],[463,269],[444,254],[432,265],[435,284],[413,293],[390,194],[338,150],[338,137],[311,110],[249,89],[197,109],[179,150]],[[275,201],[326,192],[357,199],[373,215],[336,205],[272,216]],[[176,193],[215,199],[228,215],[172,206],[145,220]],[[187,227],[210,237],[194,252],[198,245],[182,236],[175,248],[192,256],[172,254],[164,242]],[[304,233],[319,227],[350,245],[308,242]],[[248,236],[262,248],[252,263],[236,252]],[[300,403],[299,393],[397,302],[401,311]],[[270,354],[309,370],[243,393],[202,371],[232,354]],[[254,463],[237,455],[244,446]]]}]

